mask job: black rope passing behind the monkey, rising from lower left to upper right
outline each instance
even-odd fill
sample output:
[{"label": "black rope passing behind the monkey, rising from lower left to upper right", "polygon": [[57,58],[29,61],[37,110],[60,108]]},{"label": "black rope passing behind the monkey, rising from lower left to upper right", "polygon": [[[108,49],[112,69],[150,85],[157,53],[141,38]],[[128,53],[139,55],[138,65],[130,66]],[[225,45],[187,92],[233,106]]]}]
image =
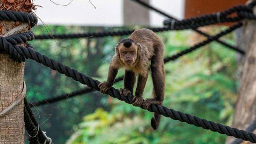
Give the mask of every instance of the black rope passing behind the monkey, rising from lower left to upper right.
[{"label": "black rope passing behind the monkey, rising from lower left to upper right", "polygon": [[[229,32],[233,31],[234,29],[236,29],[236,28],[238,28],[240,26],[242,26],[242,23],[234,25],[233,27],[230,27],[229,29],[221,32],[220,34],[218,34],[216,36],[211,36],[211,37],[209,37],[209,39],[207,39],[207,40],[205,40],[205,41],[203,41],[203,42],[201,42],[199,44],[196,44],[196,45],[194,45],[194,46],[192,46],[192,47],[190,47],[190,48],[188,48],[188,49],[186,49],[184,51],[181,51],[181,52],[179,52],[179,53],[177,53],[177,54],[175,54],[175,55],[173,55],[171,57],[167,57],[167,58],[164,59],[164,63],[169,62],[171,60],[176,60],[180,56],[182,56],[184,54],[187,54],[189,52],[192,52],[192,51],[196,50],[197,48],[204,46],[205,44],[208,44],[208,43],[210,43],[210,42],[212,42],[214,40],[216,41],[216,40],[218,40],[218,38],[220,36],[228,34]],[[123,77],[124,76],[118,77],[115,80],[115,83],[123,80]],[[56,102],[56,101],[59,101],[59,100],[64,100],[64,99],[67,99],[67,98],[71,98],[71,97],[74,97],[74,96],[77,96],[77,95],[81,95],[81,94],[85,94],[85,93],[92,92],[92,91],[93,91],[92,88],[83,88],[83,89],[77,90],[75,92],[61,94],[61,95],[53,97],[53,98],[49,98],[49,99],[46,99],[46,100],[42,100],[42,101],[36,102],[35,105],[36,106],[40,106],[40,105],[43,105],[43,104],[46,104],[46,103],[52,103],[52,102]],[[30,105],[30,106],[32,106],[32,105]]]}]

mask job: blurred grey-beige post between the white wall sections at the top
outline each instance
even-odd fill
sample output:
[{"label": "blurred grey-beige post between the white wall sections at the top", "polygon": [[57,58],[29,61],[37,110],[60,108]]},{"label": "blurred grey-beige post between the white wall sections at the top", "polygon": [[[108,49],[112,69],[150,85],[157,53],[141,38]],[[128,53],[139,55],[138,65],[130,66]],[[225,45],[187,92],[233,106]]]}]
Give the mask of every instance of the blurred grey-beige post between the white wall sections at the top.
[{"label": "blurred grey-beige post between the white wall sections at the top", "polygon": [[[143,0],[149,3],[149,0]],[[149,26],[149,10],[140,4],[124,0],[124,26]]]}]

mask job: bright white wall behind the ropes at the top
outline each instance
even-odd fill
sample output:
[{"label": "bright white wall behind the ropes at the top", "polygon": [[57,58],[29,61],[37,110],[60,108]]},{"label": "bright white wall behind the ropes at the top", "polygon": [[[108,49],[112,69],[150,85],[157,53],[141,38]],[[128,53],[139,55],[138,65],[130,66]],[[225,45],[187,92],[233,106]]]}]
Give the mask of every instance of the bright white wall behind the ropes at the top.
[{"label": "bright white wall behind the ropes at the top", "polygon": [[[52,0],[68,4],[71,0]],[[48,25],[123,26],[123,0],[73,0],[68,6],[60,6],[50,0],[34,0],[36,15]],[[150,4],[182,19],[184,0],[150,0]],[[162,26],[164,16],[150,12],[150,25]],[[42,24],[38,22],[38,24]]]}]

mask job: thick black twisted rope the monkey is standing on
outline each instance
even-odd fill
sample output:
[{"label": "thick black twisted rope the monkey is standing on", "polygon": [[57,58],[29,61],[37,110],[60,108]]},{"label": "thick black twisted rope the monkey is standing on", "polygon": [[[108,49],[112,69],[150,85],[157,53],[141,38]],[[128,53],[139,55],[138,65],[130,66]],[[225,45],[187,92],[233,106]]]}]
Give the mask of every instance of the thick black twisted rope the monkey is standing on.
[{"label": "thick black twisted rope the monkey is standing on", "polygon": [[[236,26],[233,26],[232,28],[236,28],[238,26],[241,26],[242,24],[239,23]],[[232,31],[232,30],[231,30]],[[230,30],[227,30],[226,32],[230,32]],[[223,35],[223,34],[222,34]],[[219,35],[219,36],[222,36]],[[15,39],[15,35],[12,36],[12,38]],[[213,37],[209,41],[213,41],[214,38],[218,37]],[[2,48],[2,47],[0,47]],[[38,63],[43,64],[44,66],[50,67],[52,70],[56,70],[61,74],[64,74],[68,77],[73,78],[76,81],[79,81],[81,84],[86,84],[87,86],[94,88],[95,90],[99,91],[98,84],[100,83],[98,80],[92,79],[89,76],[85,76],[84,74],[78,72],[75,69],[69,68],[68,66],[63,65],[62,63],[59,63],[53,59],[49,59],[47,56],[40,54],[39,52],[35,52],[32,48],[25,48],[25,47],[9,47],[14,51],[18,52],[21,56],[27,57],[32,60],[36,60]],[[3,48],[2,48],[3,49]],[[193,51],[194,49],[190,50]],[[186,51],[187,53],[189,51]],[[184,53],[186,53],[184,52]],[[18,56],[17,54],[14,53],[14,55]],[[183,55],[183,54],[181,54]],[[178,55],[177,55],[178,56]],[[175,58],[174,56],[173,58]],[[15,57],[14,57],[15,58]],[[170,60],[170,59],[167,59]],[[132,95],[124,96],[119,93],[119,90],[116,90],[115,88],[111,87],[108,90],[108,95],[111,97],[117,98],[118,100],[123,100],[126,103],[132,104]],[[226,134],[228,136],[234,136],[236,138],[241,138],[243,140],[249,140],[251,142],[256,142],[256,135],[251,133],[251,132],[246,132],[243,130],[238,130],[236,128],[231,128],[229,126],[225,126],[222,124],[217,124],[212,121],[207,121],[205,119],[201,119],[196,116],[191,116],[189,114],[184,114],[179,111],[175,111],[173,109],[166,108],[164,106],[160,105],[151,105],[148,108],[148,111],[150,112],[155,112],[157,114],[164,115],[166,117],[170,117],[174,120],[179,120],[181,122],[186,122],[188,124],[193,124],[198,127],[202,127],[204,129],[209,129],[213,132],[219,132],[221,134]]]}]

